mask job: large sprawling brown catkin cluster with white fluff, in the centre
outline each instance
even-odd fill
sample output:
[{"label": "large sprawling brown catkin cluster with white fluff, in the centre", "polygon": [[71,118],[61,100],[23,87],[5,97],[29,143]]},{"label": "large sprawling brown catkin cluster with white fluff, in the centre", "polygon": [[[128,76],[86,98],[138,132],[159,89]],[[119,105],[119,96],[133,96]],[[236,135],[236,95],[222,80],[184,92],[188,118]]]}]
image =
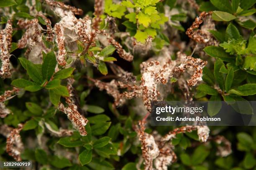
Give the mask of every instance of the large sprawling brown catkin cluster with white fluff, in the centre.
[{"label": "large sprawling brown catkin cluster with white fluff, in the centre", "polygon": [[[162,66],[160,62],[156,60],[142,62],[140,86],[135,84],[123,85],[121,82],[115,80],[109,83],[94,80],[95,86],[99,87],[100,90],[107,90],[107,93],[114,97],[115,106],[122,105],[125,99],[141,97],[143,98],[144,106],[148,112],[151,112],[151,101],[157,101],[158,97],[160,97],[160,93],[157,90],[157,84],[159,82],[166,84],[174,74],[185,72],[188,67],[194,70],[192,77],[187,80],[189,86],[194,86],[198,81],[202,80],[202,69],[207,64],[206,61],[184,55],[180,52],[177,53],[177,57],[177,60],[166,59]],[[177,63],[179,66],[175,67]],[[127,88],[128,91],[120,93],[118,87]]]}]

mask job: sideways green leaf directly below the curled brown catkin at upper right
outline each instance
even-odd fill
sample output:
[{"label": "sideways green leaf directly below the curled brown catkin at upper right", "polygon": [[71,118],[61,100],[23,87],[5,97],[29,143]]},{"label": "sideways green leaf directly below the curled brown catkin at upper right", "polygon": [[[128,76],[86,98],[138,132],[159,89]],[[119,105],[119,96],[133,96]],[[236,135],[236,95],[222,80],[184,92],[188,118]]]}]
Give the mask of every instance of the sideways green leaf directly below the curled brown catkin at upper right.
[{"label": "sideways green leaf directly below the curled brown catkin at upper right", "polygon": [[204,48],[204,51],[211,57],[220,58],[223,61],[233,62],[235,60],[235,58],[226,53],[222,47],[208,46]]}]

